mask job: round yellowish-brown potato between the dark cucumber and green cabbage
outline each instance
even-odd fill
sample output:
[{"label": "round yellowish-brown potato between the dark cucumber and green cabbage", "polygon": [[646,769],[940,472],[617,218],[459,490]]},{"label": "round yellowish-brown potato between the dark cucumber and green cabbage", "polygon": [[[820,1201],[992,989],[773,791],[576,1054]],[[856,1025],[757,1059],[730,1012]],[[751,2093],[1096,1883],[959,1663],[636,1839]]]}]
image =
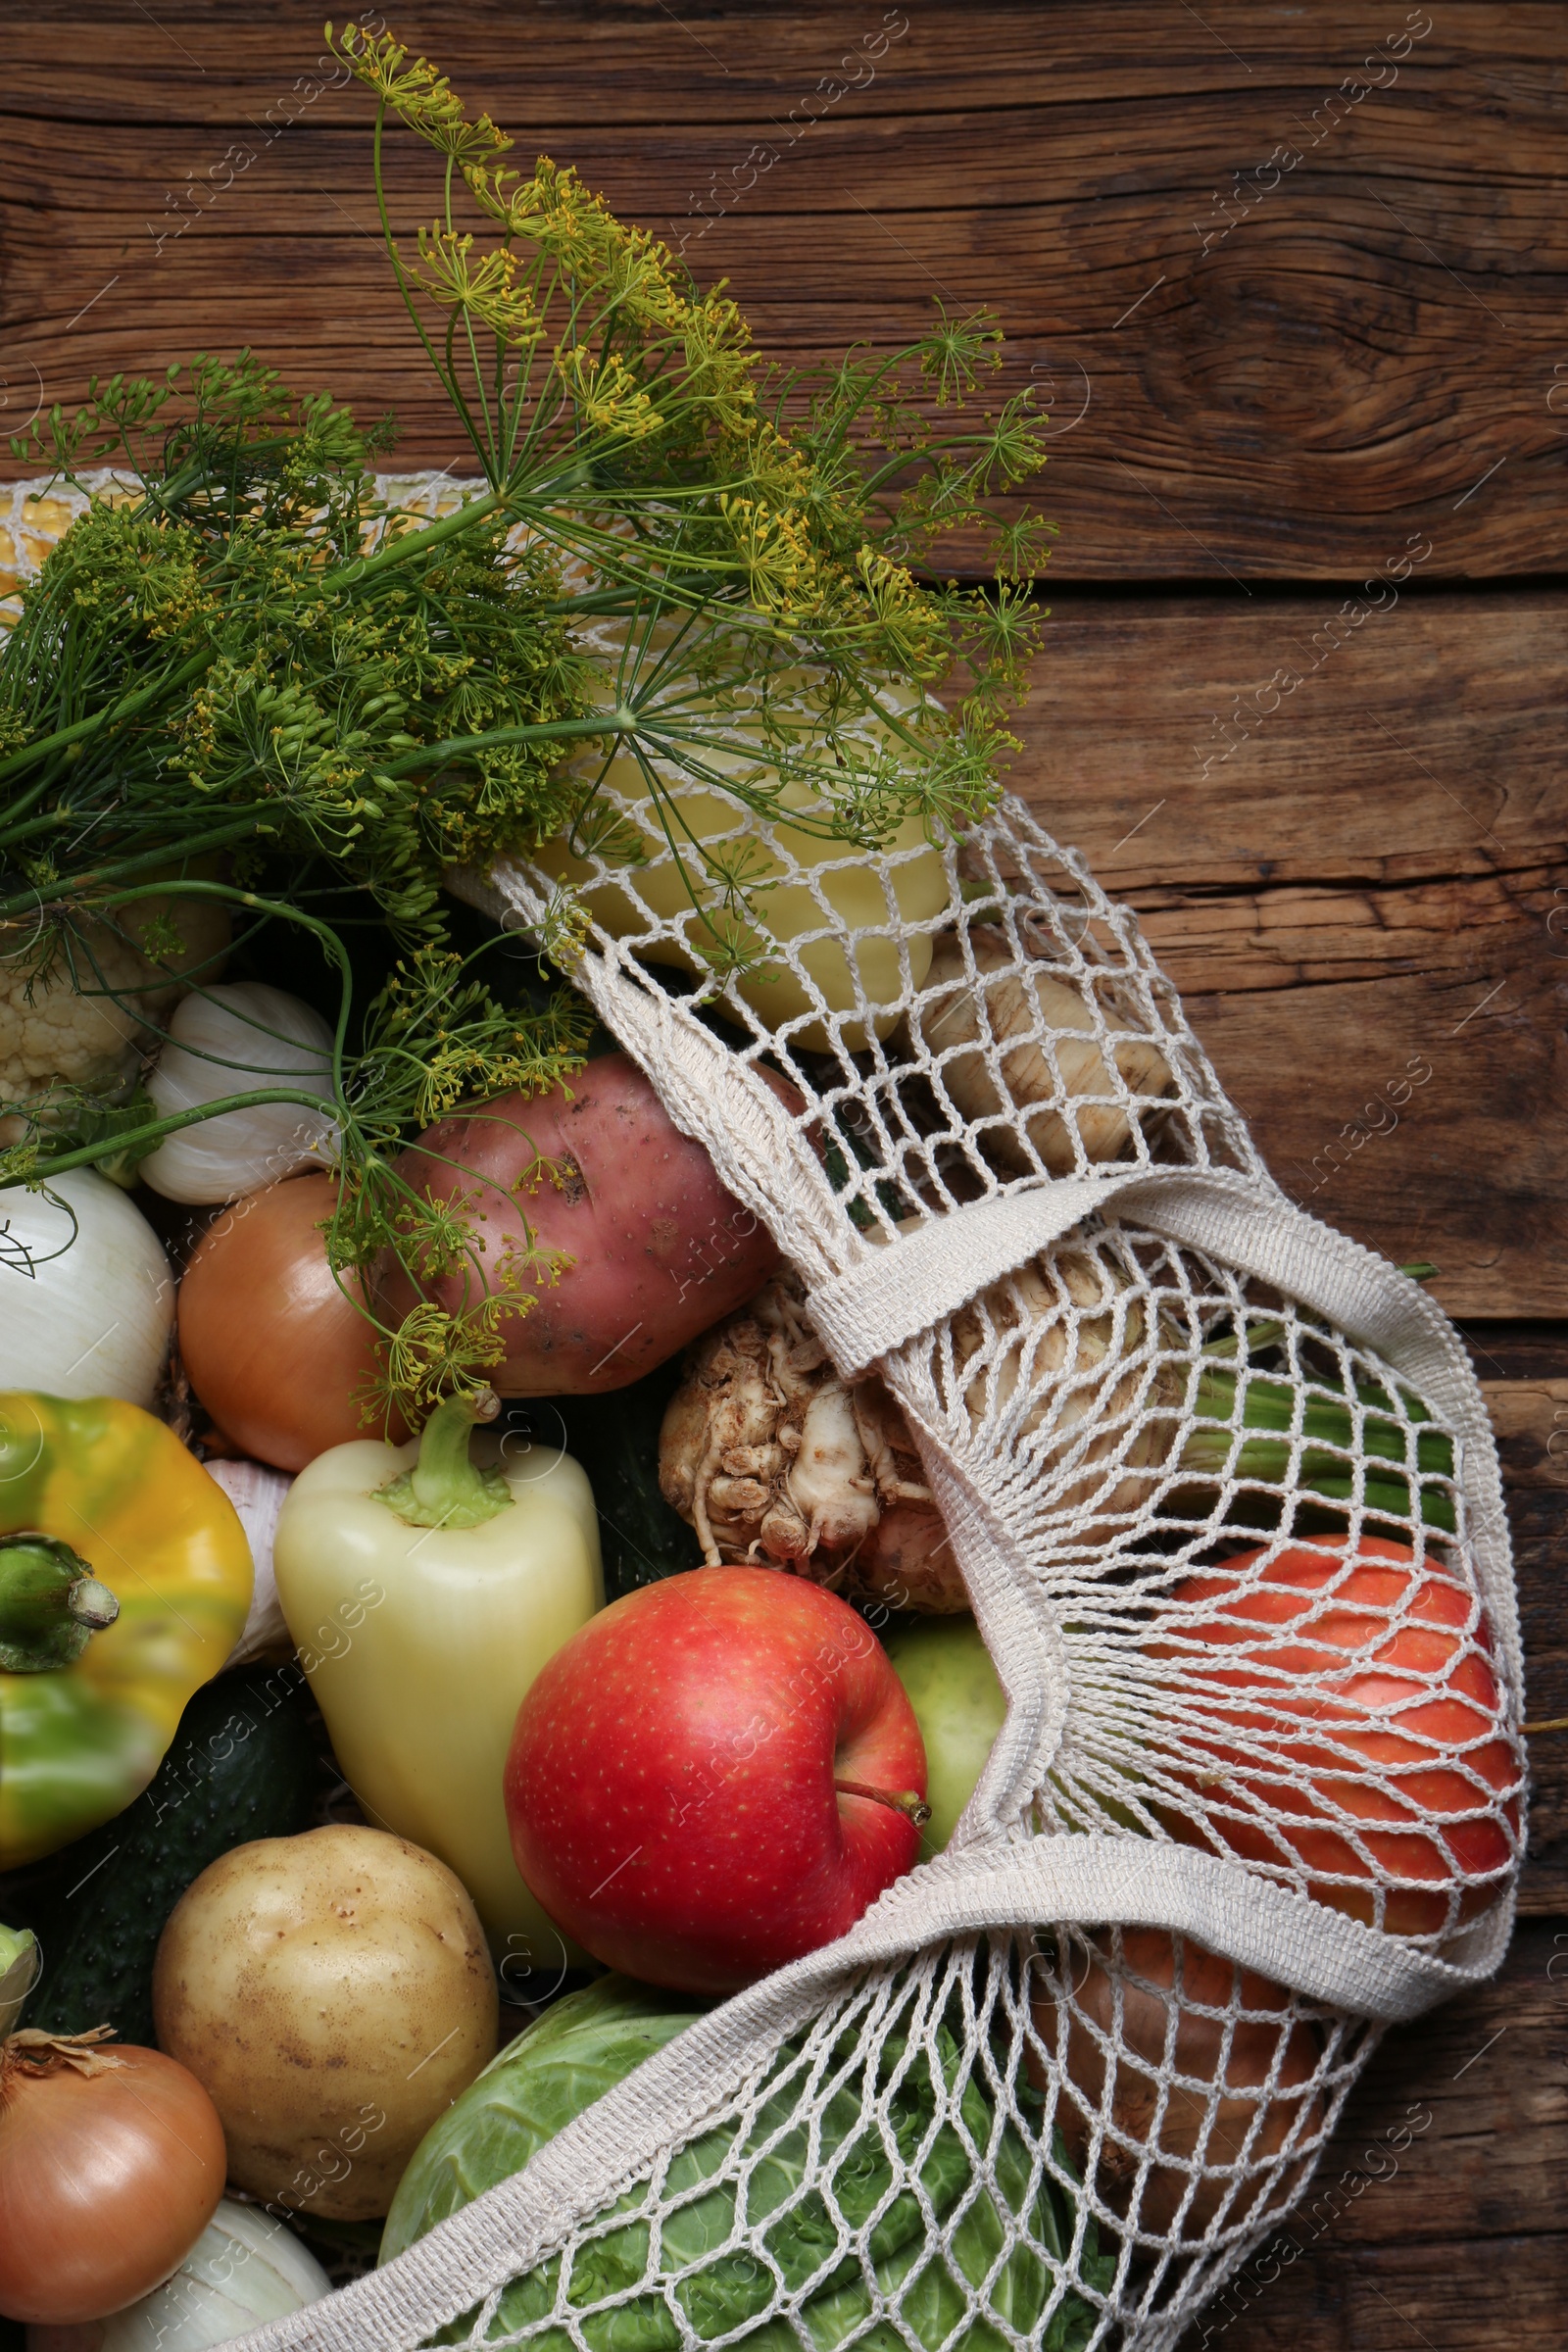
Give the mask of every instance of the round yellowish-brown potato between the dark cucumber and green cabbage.
[{"label": "round yellowish-brown potato between the dark cucumber and green cabbage", "polygon": [[186,1889],[153,2016],[223,2119],[237,2187],[369,2220],[494,2058],[498,1999],[451,1870],[386,1830],[327,1828],[235,1846]]}]

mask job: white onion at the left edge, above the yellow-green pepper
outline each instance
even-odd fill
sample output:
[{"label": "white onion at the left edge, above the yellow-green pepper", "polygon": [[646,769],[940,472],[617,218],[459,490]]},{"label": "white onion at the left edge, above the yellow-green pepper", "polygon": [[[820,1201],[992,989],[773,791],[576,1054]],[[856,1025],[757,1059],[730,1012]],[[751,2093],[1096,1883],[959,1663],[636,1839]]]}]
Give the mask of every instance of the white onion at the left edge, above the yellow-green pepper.
[{"label": "white onion at the left edge, above the yellow-green pepper", "polygon": [[150,1404],[172,1324],[162,1242],[108,1176],[0,1192],[0,1388]]}]

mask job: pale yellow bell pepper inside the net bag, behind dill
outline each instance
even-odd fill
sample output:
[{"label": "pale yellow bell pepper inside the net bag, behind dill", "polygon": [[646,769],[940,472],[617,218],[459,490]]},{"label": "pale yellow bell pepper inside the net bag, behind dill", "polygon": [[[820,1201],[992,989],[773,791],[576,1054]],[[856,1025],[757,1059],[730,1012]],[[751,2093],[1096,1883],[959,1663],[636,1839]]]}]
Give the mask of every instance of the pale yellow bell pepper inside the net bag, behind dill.
[{"label": "pale yellow bell pepper inside the net bag, behind dill", "polygon": [[[780,699],[788,699],[790,684],[788,675],[778,682]],[[802,720],[806,722],[809,677],[804,670],[795,680],[795,687]],[[893,715],[917,708],[914,696],[893,689],[884,689],[884,701]],[[701,729],[705,724],[703,701],[684,699],[679,703],[679,720]],[[691,746],[693,757],[710,774],[736,776],[766,790],[778,783],[778,767],[769,760],[762,729],[750,724],[745,715],[715,717],[712,736],[712,743]],[[750,736],[757,739],[757,753],[748,748]],[[882,750],[898,755],[898,736],[872,713],[846,727],[844,736],[870,755]],[[599,774],[602,762],[578,755],[567,764],[588,779]],[[943,854],[926,840],[919,816],[907,816],[898,826],[886,844],[884,863],[856,849],[853,842],[823,840],[799,826],[771,823],[748,811],[743,802],[705,790],[703,783],[682,774],[672,760],[656,757],[649,764],[661,786],[677,800],[682,863],[677,863],[654,816],[654,793],[646,774],[625,743],[604,767],[602,790],[607,804],[625,818],[628,837],[637,837],[649,863],[628,863],[625,880],[595,882],[595,866],[583,856],[574,856],[567,842],[559,840],[536,849],[534,863],[543,866],[557,882],[576,884],[595,920],[614,938],[635,938],[639,931],[646,931],[649,915],[677,922],[691,948],[665,936],[649,938],[642,953],[656,964],[701,971],[701,955],[691,950],[712,943],[715,934],[701,908],[691,901],[686,875],[698,896],[712,903],[715,891],[710,877],[703,873],[701,851],[719,844],[733,849],[748,840],[755,844],[750,882],[752,887],[764,884],[755,891],[752,901],[757,929],[780,946],[797,943],[795,953],[830,1014],[851,1014],[860,1004],[877,1007],[870,1028],[879,1037],[886,1037],[898,1021],[898,1000],[905,990],[905,957],[910,990],[924,985],[931,964],[931,929],[910,927],[933,924],[947,910],[950,901]],[[780,797],[792,809],[811,809],[816,802],[806,779],[788,779]],[[686,873],[682,873],[682,866]],[[780,875],[783,880],[769,882],[771,875]],[[799,880],[790,880],[792,875],[799,875]],[[818,903],[811,882],[804,880],[806,875],[813,877],[816,889],[827,901],[825,908]],[[837,924],[865,936],[856,938],[853,946],[846,946],[837,936],[806,938],[811,931],[830,931]],[[802,985],[783,960],[773,964],[769,976],[741,974],[736,993],[771,1030],[799,1023],[790,1028],[792,1042],[813,1051],[825,1051],[832,1044],[827,1025],[816,1016],[809,988]],[[865,1047],[865,1033],[867,1023],[860,1018],[837,1023],[837,1037],[849,1051]]]}]

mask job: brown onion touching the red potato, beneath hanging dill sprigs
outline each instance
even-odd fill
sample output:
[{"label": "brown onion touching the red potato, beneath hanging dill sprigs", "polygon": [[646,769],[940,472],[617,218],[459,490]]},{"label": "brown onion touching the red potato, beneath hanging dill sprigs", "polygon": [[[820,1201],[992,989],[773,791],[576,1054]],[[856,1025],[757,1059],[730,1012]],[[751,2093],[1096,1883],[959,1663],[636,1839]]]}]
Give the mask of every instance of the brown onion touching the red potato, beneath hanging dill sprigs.
[{"label": "brown onion touching the red potato, beneath hanging dill sprigs", "polygon": [[[179,1287],[195,1395],[242,1454],[275,1470],[367,1435],[355,1390],[376,1374],[376,1331],[327,1265],[320,1225],[334,1200],[331,1176],[249,1192],[202,1235]],[[388,1437],[407,1437],[400,1418]]]}]

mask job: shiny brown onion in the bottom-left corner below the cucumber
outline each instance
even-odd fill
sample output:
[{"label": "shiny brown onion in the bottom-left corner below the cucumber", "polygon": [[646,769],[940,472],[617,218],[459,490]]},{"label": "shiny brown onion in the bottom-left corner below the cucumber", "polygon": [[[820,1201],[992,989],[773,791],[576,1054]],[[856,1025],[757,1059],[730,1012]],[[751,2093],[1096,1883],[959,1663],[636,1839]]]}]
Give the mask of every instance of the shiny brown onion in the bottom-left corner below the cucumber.
[{"label": "shiny brown onion in the bottom-left corner below the cucumber", "polygon": [[106,2319],[179,2270],[212,2220],[223,2126],[162,2051],[85,2051],[89,2072],[38,2072],[21,2046],[0,2049],[0,2314]]}]

